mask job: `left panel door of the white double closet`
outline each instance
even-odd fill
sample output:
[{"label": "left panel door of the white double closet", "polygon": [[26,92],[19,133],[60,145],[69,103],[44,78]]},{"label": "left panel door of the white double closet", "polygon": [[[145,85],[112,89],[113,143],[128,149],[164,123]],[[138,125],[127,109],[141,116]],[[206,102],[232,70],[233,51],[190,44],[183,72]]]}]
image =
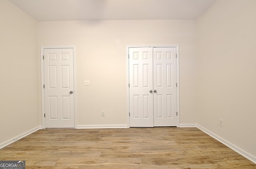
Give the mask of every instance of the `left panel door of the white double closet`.
[{"label": "left panel door of the white double closet", "polygon": [[153,127],[152,48],[129,48],[130,127]]}]

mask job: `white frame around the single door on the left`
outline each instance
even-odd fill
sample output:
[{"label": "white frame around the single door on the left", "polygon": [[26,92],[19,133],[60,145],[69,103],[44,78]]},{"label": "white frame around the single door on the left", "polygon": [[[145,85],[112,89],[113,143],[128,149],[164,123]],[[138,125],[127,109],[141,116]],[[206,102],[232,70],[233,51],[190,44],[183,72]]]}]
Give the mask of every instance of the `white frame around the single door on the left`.
[{"label": "white frame around the single door on the left", "polygon": [[44,102],[44,49],[73,49],[73,65],[74,65],[74,126],[77,124],[77,112],[76,112],[76,59],[75,59],[75,46],[41,46],[40,61],[41,61],[41,103],[42,103],[42,129],[45,129],[45,102]]}]

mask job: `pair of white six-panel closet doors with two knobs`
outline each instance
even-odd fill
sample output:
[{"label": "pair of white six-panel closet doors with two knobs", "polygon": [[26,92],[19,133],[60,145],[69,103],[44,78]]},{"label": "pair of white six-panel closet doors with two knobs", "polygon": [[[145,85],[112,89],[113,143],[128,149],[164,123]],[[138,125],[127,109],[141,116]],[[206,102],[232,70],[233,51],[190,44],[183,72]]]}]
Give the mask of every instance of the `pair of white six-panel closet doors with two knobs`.
[{"label": "pair of white six-panel closet doors with two knobs", "polygon": [[129,48],[130,127],[177,126],[176,48]]}]

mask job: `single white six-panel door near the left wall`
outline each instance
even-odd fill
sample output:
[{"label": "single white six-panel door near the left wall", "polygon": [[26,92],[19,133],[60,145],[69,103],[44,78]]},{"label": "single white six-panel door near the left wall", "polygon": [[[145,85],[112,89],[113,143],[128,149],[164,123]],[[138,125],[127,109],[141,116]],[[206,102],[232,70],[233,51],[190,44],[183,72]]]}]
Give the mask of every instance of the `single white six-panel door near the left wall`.
[{"label": "single white six-panel door near the left wall", "polygon": [[45,126],[74,127],[72,48],[44,49]]}]

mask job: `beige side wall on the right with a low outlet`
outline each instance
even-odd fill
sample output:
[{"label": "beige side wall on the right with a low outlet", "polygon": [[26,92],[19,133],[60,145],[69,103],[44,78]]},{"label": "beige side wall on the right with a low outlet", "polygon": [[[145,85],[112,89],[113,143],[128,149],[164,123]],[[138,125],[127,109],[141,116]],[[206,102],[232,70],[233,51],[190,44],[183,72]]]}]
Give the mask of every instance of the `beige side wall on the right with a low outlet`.
[{"label": "beige side wall on the right with a low outlet", "polygon": [[217,0],[196,21],[197,123],[254,157],[255,8],[255,0]]}]

